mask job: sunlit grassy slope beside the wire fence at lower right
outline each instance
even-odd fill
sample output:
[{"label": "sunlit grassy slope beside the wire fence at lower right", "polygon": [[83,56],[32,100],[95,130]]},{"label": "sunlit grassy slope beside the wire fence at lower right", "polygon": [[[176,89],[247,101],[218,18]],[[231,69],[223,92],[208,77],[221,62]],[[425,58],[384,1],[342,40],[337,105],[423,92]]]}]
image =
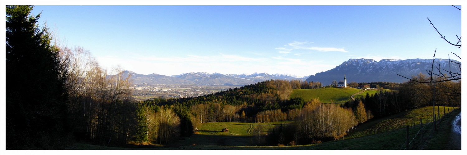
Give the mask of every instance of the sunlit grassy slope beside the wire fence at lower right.
[{"label": "sunlit grassy slope beside the wire fence at lower right", "polygon": [[[450,111],[453,110],[453,107],[446,107],[446,113],[443,113],[443,108],[439,107],[439,114],[442,117],[443,115],[447,114],[448,108]],[[438,106],[435,107],[436,115],[438,115]],[[456,108],[457,109],[457,108]],[[433,119],[433,106],[427,106],[423,108],[417,108],[409,111],[404,111],[395,115],[390,115],[388,117],[384,117],[381,119],[373,120],[362,124],[361,126],[352,130],[346,138],[356,138],[365,135],[373,135],[378,134],[386,131],[395,130],[398,128],[402,128],[402,126],[412,126],[416,125],[419,128],[420,125],[420,118],[422,119],[423,123],[426,123],[427,120]],[[438,119],[438,118],[437,118]]]}]

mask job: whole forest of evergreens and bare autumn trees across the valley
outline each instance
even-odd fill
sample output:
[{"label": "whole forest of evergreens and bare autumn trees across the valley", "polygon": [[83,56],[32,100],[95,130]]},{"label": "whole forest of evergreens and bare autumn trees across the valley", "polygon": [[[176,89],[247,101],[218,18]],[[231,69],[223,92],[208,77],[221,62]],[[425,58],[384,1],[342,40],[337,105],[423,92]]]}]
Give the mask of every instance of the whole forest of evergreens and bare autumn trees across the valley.
[{"label": "whole forest of evergreens and bare autumn trees across the valley", "polygon": [[[460,80],[370,82],[376,88],[398,91],[381,89],[342,106],[290,98],[293,89],[323,87],[318,81],[298,80],[262,81],[198,97],[136,102],[131,97],[132,81],[122,76],[123,69],[106,70],[84,48],[67,47],[46,25],[37,24],[40,13],[31,16],[32,8],[6,9],[7,149],[59,149],[74,142],[167,145],[193,134],[199,123],[222,121],[294,120],[274,128],[270,144],[255,145],[310,144],[341,138],[369,119],[433,104],[460,106]],[[429,78],[412,76],[417,81]]]}]

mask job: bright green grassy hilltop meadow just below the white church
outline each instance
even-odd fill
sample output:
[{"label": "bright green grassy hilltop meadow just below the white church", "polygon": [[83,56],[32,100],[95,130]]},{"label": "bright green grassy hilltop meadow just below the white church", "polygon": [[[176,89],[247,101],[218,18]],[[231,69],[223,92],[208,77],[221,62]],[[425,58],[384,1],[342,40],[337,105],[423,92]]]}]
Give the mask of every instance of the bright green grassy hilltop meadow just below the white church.
[{"label": "bright green grassy hilltop meadow just below the white church", "polygon": [[301,97],[304,101],[319,98],[323,103],[345,102],[350,96],[360,92],[357,88],[319,88],[319,89],[294,89],[290,98]]}]

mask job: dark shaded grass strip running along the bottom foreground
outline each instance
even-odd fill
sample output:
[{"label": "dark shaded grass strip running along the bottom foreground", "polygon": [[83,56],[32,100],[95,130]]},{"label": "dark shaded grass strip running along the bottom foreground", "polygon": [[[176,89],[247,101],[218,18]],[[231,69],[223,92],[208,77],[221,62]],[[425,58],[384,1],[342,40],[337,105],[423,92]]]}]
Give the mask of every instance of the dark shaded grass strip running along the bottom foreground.
[{"label": "dark shaded grass strip running along the bottom foreground", "polygon": [[[410,130],[410,135],[416,134],[416,130]],[[368,135],[359,138],[347,138],[331,142],[323,142],[308,145],[297,146],[269,146],[255,147],[240,145],[241,143],[249,143],[249,137],[241,138],[242,136],[226,136],[226,135],[200,135],[194,134],[191,137],[185,137],[185,140],[179,140],[176,146],[152,148],[116,148],[102,147],[90,144],[75,144],[74,147],[68,149],[198,149],[198,150],[214,150],[214,149],[295,149],[295,150],[311,150],[311,149],[401,149],[405,142],[405,130],[399,129],[395,131],[384,132],[375,135]],[[238,138],[235,138],[238,137]],[[228,145],[219,145],[219,143],[228,143]]]}]

